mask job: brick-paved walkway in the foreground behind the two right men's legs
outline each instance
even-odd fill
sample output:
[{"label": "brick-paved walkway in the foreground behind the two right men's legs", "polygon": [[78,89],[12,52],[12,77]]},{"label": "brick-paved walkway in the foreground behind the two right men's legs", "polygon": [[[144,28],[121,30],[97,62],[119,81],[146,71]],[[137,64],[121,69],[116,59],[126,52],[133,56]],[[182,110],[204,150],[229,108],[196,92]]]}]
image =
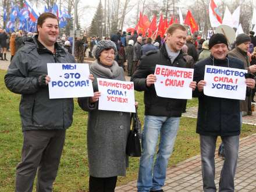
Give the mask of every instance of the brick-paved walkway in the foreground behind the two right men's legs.
[{"label": "brick-paved walkway in the foreground behind the two right men's legs", "polygon": [[[219,158],[218,152],[216,152],[216,187],[218,187],[222,165],[223,159]],[[256,191],[256,134],[240,140],[239,160],[234,183],[235,191]],[[166,182],[163,190],[165,192],[202,191],[200,155],[169,168],[166,173]],[[136,182],[134,181],[125,186],[116,187],[115,191],[136,191]]]}]

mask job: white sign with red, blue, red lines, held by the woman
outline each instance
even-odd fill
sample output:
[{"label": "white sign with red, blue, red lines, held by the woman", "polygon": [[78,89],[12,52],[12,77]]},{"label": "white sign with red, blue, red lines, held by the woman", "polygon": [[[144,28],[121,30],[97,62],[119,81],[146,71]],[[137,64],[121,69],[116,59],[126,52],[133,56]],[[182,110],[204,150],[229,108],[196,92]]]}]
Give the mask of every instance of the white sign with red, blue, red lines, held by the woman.
[{"label": "white sign with red, blue, red lines, held by the woman", "polygon": [[135,113],[133,82],[98,78],[98,109]]}]

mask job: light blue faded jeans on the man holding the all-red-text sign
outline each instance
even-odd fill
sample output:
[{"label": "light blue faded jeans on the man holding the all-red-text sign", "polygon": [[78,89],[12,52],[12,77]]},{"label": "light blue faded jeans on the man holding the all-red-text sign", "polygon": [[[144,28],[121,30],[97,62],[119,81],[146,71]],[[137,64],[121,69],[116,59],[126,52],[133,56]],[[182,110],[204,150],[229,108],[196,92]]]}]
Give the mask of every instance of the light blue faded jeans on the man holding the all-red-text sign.
[{"label": "light blue faded jeans on the man holding the all-red-text sign", "polygon": [[[145,116],[142,135],[142,154],[138,171],[138,191],[160,190],[165,183],[168,159],[172,154],[173,145],[179,129],[180,118],[165,116]],[[155,160],[154,155],[160,141]]]}]

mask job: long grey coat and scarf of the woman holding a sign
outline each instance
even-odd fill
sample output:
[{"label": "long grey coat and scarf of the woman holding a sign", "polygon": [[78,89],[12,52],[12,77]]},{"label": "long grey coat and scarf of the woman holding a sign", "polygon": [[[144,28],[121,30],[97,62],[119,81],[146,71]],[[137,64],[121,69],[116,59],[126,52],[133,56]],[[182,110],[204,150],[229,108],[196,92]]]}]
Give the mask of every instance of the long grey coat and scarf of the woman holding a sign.
[{"label": "long grey coat and scarf of the woman holding a sign", "polygon": [[[94,92],[98,91],[98,77],[125,81],[123,69],[116,62],[108,68],[95,61],[90,72],[94,75]],[[90,104],[88,97],[78,98],[78,103],[81,109],[89,112],[87,150],[90,176],[125,176],[130,113],[98,110],[98,102]]]}]

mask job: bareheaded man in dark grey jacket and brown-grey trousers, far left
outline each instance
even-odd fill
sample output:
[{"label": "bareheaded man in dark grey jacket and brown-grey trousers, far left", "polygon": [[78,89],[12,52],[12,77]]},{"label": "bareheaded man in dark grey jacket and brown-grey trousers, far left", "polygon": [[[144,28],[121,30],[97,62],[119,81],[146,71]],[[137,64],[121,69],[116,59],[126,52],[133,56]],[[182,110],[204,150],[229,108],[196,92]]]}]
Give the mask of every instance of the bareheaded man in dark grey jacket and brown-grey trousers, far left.
[{"label": "bareheaded man in dark grey jacket and brown-grey trousers, far left", "polygon": [[[66,129],[72,125],[73,99],[49,99],[47,63],[74,63],[74,57],[57,43],[59,23],[52,13],[37,20],[33,39],[25,42],[10,63],[6,87],[21,94],[22,160],[17,165],[16,191],[52,191],[61,159]],[[38,172],[37,172],[38,170]]]}]

